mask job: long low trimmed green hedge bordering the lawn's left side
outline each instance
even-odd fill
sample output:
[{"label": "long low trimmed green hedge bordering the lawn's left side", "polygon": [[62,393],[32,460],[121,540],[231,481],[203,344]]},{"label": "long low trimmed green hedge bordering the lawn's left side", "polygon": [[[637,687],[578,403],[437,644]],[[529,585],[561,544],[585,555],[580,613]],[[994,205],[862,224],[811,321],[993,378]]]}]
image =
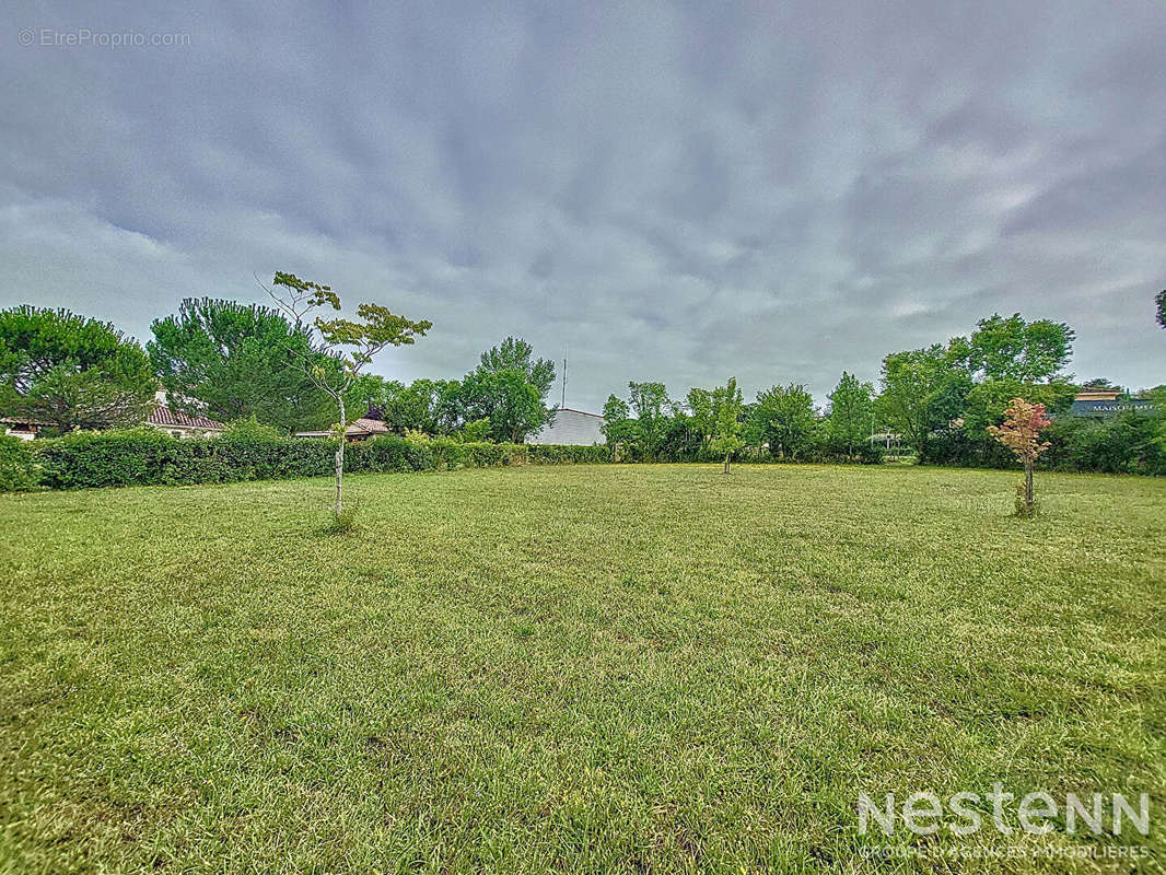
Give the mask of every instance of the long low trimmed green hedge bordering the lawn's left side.
[{"label": "long low trimmed green hedge bordering the lawn's left side", "polygon": [[[0,489],[188,485],[331,474],[336,444],[326,439],[271,438],[237,432],[176,440],[153,428],[78,432],[0,452]],[[9,457],[12,461],[9,461]],[[426,471],[515,464],[611,461],[605,447],[535,447],[409,441],[382,435],[345,447],[345,470]]]}]

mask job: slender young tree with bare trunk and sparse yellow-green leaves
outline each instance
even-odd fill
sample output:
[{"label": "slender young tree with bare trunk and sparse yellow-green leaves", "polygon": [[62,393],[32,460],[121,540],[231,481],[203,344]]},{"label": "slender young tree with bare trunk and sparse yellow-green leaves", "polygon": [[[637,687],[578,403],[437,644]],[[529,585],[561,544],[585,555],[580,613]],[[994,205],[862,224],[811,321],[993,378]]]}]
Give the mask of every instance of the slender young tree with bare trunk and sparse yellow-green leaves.
[{"label": "slender young tree with bare trunk and sparse yellow-green leaves", "polygon": [[[389,345],[415,343],[417,337],[423,337],[426,331],[433,328],[433,322],[428,320],[414,322],[389,313],[380,304],[361,303],[357,307],[357,320],[325,320],[316,316],[309,328],[304,318],[312,310],[322,307],[340,309],[339,295],[331,286],[322,286],[318,282],[302,280],[293,273],[276,271],[273,287],[267,289],[267,293],[280,309],[293,318],[297,330],[309,331],[309,337],[312,335],[318,337],[319,351],[325,352],[331,359],[330,363],[322,363],[312,354],[296,357],[303,373],[332,399],[339,414],[332,427],[336,434],[335,513],[339,519],[344,510],[344,432],[351,421],[345,407],[345,397],[360,376],[361,369],[372,362],[373,356]],[[330,364],[333,366],[329,366]]]}]

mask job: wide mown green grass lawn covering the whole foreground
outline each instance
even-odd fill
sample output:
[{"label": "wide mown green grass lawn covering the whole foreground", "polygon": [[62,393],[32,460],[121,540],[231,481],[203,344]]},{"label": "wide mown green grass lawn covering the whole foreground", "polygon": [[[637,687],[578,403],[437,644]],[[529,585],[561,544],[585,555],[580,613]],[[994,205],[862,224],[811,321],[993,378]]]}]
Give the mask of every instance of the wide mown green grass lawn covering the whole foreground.
[{"label": "wide mown green grass lawn covering the whole foreground", "polygon": [[[0,870],[1160,868],[1166,482],[733,471],[0,496]],[[858,834],[995,782],[1150,835]]]}]

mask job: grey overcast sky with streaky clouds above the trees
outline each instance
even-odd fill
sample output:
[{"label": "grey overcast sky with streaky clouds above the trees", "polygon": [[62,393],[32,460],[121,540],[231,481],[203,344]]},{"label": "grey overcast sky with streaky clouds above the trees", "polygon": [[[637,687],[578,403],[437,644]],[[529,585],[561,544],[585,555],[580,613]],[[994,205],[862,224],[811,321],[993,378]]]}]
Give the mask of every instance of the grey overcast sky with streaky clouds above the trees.
[{"label": "grey overcast sky with streaky clouds above the trees", "polygon": [[1166,383],[1160,0],[148,6],[0,10],[0,306],[146,341],[286,270],[434,322],[381,373],[517,334],[595,411],[1017,310]]}]

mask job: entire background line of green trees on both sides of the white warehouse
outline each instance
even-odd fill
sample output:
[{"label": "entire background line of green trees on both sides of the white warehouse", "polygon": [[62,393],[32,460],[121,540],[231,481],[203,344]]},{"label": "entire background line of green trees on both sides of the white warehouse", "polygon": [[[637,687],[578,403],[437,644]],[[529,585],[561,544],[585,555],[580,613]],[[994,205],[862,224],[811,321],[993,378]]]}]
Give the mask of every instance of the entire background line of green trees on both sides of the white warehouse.
[{"label": "entire background line of green trees on both sides of the white warehouse", "polygon": [[[303,282],[276,274],[279,290],[319,294],[317,304],[332,306],[318,292],[326,287],[309,284],[297,289],[280,285],[281,276]],[[1166,321],[1166,293],[1154,303],[1156,317]],[[368,314],[377,315],[375,308]],[[66,310],[3,310],[0,408],[3,415],[62,432],[132,425],[142,421],[161,384],[170,404],[188,413],[255,420],[283,433],[335,424],[339,402],[346,412],[340,419],[368,413],[399,433],[513,443],[554,415],[547,397],[555,366],[538,358],[521,338],[507,337],[483,352],[462,379],[403,384],[360,372],[354,365],[365,360],[338,352],[337,342],[352,341],[371,322],[309,322],[302,315],[279,306],[188,299],[177,313],[154,321],[153,338],[143,348],[112,324]],[[395,337],[398,329],[429,327],[387,310],[379,317],[388,320],[381,323],[385,337]],[[743,454],[878,461],[871,435],[891,433],[921,462],[993,464],[1007,456],[988,428],[1004,420],[1011,399],[1042,404],[1054,419],[1068,410],[1081,385],[1066,372],[1074,340],[1065,323],[996,314],[965,337],[887,355],[878,388],[843,372],[824,410],[817,410],[798,383],[774,385],[745,402],[732,379],[690,388],[680,399],[662,383],[631,382],[625,397],[607,399],[603,430],[628,460],[722,459],[726,467]],[[1101,378],[1089,383],[1108,385]],[[1156,393],[1160,397],[1161,387],[1147,394]],[[1125,456],[1160,452],[1166,441],[1160,422],[1151,419],[1118,418],[1129,426],[1124,436],[1115,436],[1115,430],[1104,441],[1125,441],[1129,446],[1115,450]],[[1067,424],[1062,430],[1073,427]],[[1079,442],[1096,456],[1096,429],[1076,427],[1083,429]],[[1054,446],[1051,457],[1058,452]]]}]

